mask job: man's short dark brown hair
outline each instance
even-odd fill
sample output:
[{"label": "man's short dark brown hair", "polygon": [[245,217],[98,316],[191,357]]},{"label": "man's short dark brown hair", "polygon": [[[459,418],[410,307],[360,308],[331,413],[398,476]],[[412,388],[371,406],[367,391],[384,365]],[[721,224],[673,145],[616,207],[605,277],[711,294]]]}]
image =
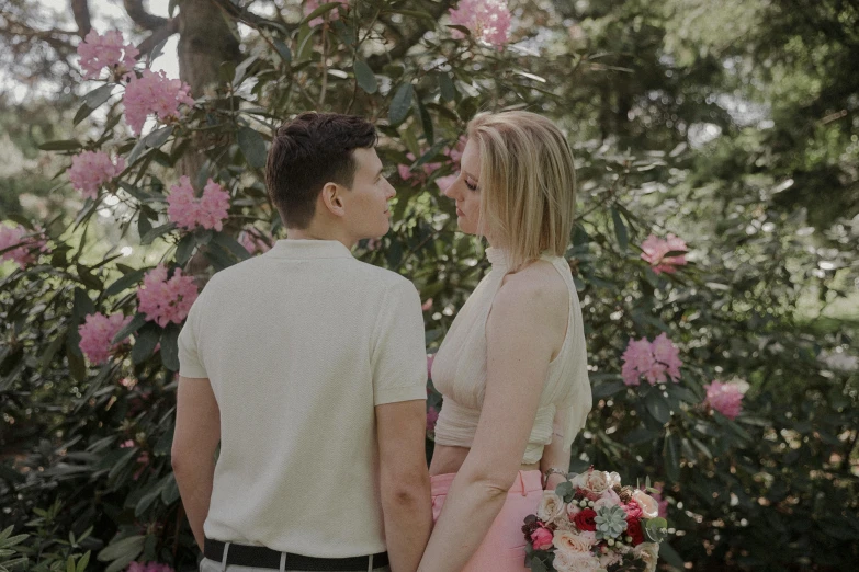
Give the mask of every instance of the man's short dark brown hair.
[{"label": "man's short dark brown hair", "polygon": [[286,228],[305,229],[326,183],[351,187],[358,148],[376,145],[376,129],[363,117],[308,112],[274,135],[265,165],[269,196]]}]

